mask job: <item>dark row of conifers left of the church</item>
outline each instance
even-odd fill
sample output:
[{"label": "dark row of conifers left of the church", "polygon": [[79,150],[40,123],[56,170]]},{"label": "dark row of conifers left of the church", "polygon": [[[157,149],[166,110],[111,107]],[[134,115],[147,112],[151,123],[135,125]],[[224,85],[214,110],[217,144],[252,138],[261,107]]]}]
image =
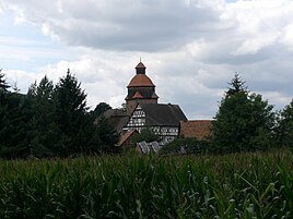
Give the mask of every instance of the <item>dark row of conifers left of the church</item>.
[{"label": "dark row of conifers left of the church", "polygon": [[0,72],[0,157],[99,154],[117,141],[112,124],[89,111],[86,94],[69,71],[56,85],[45,76],[25,95],[11,92]]}]

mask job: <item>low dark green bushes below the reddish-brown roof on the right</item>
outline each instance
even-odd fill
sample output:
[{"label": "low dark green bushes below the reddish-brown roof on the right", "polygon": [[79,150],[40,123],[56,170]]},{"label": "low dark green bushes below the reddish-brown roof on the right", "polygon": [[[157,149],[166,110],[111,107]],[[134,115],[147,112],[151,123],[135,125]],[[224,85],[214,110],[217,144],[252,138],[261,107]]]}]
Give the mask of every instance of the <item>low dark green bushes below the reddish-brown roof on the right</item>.
[{"label": "low dark green bushes below the reddish-brown roof on the right", "polygon": [[160,154],[165,155],[186,153],[202,155],[209,149],[209,143],[207,141],[199,141],[196,138],[176,138],[173,142],[164,145],[164,147],[160,149]]}]

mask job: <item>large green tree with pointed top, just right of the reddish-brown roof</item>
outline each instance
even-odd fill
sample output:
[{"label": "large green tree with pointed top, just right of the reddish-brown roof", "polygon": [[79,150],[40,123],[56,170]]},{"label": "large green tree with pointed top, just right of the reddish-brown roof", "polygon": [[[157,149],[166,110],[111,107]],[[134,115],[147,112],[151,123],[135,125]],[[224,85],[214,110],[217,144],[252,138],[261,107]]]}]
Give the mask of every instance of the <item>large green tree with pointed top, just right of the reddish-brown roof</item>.
[{"label": "large green tree with pointed top, just right of the reddish-brown roof", "polygon": [[212,124],[218,153],[266,149],[272,144],[273,107],[260,95],[249,94],[238,74],[221,100]]}]

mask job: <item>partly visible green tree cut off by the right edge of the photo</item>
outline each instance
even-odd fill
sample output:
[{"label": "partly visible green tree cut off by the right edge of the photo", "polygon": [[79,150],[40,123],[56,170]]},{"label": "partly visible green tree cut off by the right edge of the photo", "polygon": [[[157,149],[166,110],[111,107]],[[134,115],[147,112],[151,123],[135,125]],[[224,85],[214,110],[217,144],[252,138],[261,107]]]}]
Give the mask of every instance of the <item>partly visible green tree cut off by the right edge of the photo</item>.
[{"label": "partly visible green tree cut off by the right edge of the photo", "polygon": [[278,142],[280,146],[293,147],[293,99],[280,114]]}]

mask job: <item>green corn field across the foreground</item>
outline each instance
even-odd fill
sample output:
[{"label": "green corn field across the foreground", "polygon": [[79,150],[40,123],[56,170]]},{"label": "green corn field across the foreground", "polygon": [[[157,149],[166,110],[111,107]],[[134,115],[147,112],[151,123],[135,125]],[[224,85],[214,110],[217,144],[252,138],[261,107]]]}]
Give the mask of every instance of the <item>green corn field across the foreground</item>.
[{"label": "green corn field across the foreground", "polygon": [[293,218],[293,151],[0,160],[0,218]]}]

